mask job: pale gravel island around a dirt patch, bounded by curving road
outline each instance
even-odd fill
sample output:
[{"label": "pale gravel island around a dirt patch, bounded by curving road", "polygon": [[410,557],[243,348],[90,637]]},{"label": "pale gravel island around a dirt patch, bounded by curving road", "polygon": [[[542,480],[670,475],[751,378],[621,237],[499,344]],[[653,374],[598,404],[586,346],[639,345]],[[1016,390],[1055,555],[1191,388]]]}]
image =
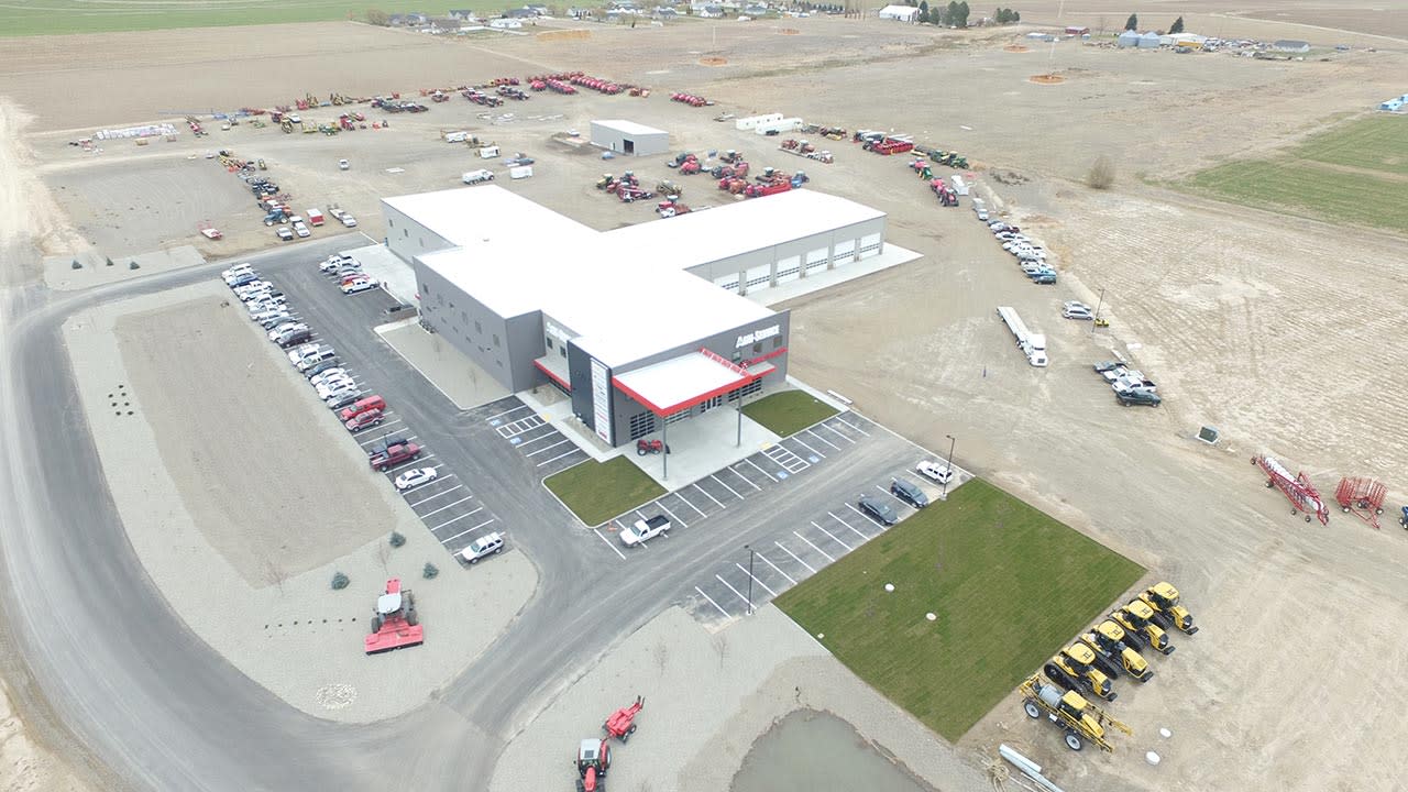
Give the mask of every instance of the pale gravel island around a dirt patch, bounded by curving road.
[{"label": "pale gravel island around a dirt patch, bounded by curving road", "polygon": [[[132,547],[176,614],[290,705],[346,722],[415,709],[508,627],[536,588],[532,564],[507,552],[462,571],[227,297],[203,283],[65,327]],[[391,530],[407,544],[391,550]],[[331,590],[334,571],[352,585]],[[391,576],[415,590],[425,644],[367,658]]]}]

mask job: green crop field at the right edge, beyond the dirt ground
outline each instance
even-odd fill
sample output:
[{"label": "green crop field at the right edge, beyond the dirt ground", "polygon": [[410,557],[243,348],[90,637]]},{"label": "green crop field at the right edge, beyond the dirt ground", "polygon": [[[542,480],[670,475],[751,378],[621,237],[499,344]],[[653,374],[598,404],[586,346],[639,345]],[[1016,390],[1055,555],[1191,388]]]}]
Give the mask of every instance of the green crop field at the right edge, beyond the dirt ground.
[{"label": "green crop field at the right edge, beyond the dirt ground", "polygon": [[1408,233],[1408,118],[1339,124],[1270,159],[1194,173],[1183,189],[1300,217]]}]

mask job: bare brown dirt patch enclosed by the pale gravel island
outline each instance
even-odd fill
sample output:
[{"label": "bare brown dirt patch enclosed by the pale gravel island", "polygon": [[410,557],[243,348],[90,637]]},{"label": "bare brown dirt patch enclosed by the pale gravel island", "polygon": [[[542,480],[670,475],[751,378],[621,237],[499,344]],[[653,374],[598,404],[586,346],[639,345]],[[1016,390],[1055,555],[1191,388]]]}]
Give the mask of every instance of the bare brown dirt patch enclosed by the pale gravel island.
[{"label": "bare brown dirt patch enclosed by the pale gravel island", "polygon": [[313,413],[307,388],[275,368],[287,358],[273,359],[283,352],[255,330],[238,302],[207,297],[122,317],[117,337],[128,393],[161,421],[153,431],[186,510],[260,588],[351,552],[396,517],[327,454],[332,416]]}]

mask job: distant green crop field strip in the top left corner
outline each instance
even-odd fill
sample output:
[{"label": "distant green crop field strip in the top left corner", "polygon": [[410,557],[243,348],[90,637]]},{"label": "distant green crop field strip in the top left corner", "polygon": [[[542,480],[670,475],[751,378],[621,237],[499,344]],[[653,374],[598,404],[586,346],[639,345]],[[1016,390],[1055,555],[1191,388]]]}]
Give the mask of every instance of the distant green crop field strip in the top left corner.
[{"label": "distant green crop field strip in the top left corner", "polygon": [[44,0],[0,6],[0,37],[59,35],[193,27],[365,20],[386,13],[445,14],[449,8],[501,11],[514,3],[417,3],[413,0]]}]

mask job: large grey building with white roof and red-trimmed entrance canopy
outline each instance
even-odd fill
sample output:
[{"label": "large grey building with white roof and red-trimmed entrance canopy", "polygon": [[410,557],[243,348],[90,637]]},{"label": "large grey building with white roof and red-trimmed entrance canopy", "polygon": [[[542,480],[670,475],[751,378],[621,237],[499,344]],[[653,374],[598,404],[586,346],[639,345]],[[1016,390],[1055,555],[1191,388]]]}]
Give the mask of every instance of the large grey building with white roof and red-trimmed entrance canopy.
[{"label": "large grey building with white roof and red-trimmed entrance canopy", "polygon": [[497,186],[391,197],[421,317],[514,392],[551,385],[608,445],[786,378],[756,293],[879,255],[884,213],[791,190],[598,233]]}]

